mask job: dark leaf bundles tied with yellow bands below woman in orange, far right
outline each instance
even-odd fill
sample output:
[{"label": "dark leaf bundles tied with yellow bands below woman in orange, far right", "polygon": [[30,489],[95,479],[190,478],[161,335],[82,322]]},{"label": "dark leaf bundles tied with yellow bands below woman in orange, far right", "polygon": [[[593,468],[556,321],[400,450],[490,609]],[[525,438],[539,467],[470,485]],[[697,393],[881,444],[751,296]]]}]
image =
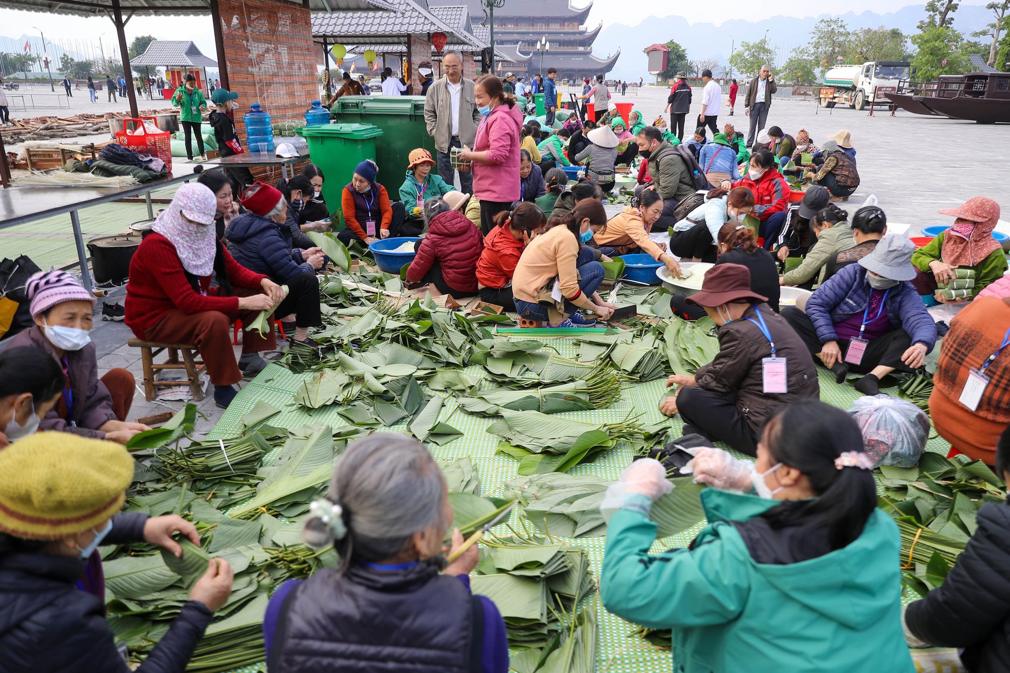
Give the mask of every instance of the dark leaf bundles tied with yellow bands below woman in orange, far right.
[{"label": "dark leaf bundles tied with yellow bands below woman in orange, far right", "polygon": [[943,583],[987,502],[1006,499],[1003,481],[982,461],[962,464],[926,452],[912,468],[879,468],[880,506],[901,532],[902,581],[925,594]]}]

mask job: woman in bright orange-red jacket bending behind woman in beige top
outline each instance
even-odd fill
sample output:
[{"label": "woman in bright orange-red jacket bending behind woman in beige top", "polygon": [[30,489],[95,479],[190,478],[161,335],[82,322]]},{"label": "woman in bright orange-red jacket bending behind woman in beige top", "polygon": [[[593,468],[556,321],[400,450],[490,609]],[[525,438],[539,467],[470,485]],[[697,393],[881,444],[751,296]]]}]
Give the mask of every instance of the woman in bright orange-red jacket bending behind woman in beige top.
[{"label": "woman in bright orange-red jacket bending behind woman in beige top", "polygon": [[494,222],[494,228],[484,238],[481,259],[477,261],[478,289],[482,301],[514,311],[512,274],[515,265],[536,230],[547,223],[547,218],[536,205],[524,202],[515,210],[498,213]]}]

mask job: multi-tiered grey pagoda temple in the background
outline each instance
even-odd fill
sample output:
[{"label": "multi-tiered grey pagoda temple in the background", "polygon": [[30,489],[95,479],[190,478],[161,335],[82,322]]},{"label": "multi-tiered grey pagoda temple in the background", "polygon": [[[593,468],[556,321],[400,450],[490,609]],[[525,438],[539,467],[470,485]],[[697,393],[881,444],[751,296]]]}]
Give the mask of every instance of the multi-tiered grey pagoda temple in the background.
[{"label": "multi-tiered grey pagoda temple in the background", "polygon": [[[459,0],[457,0],[458,2]],[[434,0],[430,4],[449,4],[452,0]],[[488,26],[484,25],[481,0],[467,0],[474,35],[490,41]],[[543,73],[547,68],[558,69],[560,80],[581,80],[606,74],[613,69],[620,50],[606,59],[593,56],[593,40],[603,24],[592,29],[584,27],[593,3],[574,7],[570,0],[507,0],[504,7],[495,8],[495,50],[508,56],[500,59],[495,74],[510,71],[516,75],[531,76],[540,72],[540,53],[536,43],[546,37],[549,49],[543,53]],[[501,70],[501,72],[498,72]]]}]

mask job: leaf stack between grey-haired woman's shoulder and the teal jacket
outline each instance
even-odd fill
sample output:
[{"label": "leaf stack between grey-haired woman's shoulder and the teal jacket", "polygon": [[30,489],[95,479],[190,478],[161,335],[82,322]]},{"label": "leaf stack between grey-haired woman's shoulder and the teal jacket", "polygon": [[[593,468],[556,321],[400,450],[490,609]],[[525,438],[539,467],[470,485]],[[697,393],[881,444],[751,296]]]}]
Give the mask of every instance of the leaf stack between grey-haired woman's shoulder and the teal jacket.
[{"label": "leaf stack between grey-haired woman's shoulder and the teal jacket", "polygon": [[546,646],[562,613],[594,588],[585,550],[536,537],[485,540],[477,572],[474,593],[495,602],[516,648]]}]

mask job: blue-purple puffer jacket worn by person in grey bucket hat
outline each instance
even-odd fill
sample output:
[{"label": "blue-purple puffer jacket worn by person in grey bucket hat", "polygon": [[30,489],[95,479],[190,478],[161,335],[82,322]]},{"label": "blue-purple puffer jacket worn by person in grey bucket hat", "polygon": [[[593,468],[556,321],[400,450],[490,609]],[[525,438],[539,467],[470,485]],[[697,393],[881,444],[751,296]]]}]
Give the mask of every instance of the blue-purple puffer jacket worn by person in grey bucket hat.
[{"label": "blue-purple puffer jacket worn by person in grey bucket hat", "polygon": [[[817,288],[807,301],[806,312],[821,344],[837,341],[835,322],[866,310],[870,290],[867,270],[858,264],[844,267]],[[936,323],[911,283],[899,283],[891,288],[887,295],[887,316],[895,328],[901,327],[908,332],[912,344],[922,344],[927,353],[933,350]]]}]

